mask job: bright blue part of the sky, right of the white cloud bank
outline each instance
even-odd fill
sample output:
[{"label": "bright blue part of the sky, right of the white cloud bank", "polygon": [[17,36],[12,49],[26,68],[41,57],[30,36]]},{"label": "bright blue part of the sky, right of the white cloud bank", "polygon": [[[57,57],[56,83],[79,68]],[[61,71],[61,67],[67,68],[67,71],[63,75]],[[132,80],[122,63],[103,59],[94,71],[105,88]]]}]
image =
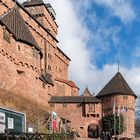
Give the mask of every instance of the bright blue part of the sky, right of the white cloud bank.
[{"label": "bright blue part of the sky, right of the white cloud bank", "polygon": [[[123,0],[119,1],[118,3],[121,3]],[[128,68],[140,64],[140,54],[138,54],[140,52],[136,52],[140,51],[140,49],[138,49],[140,47],[140,1],[128,1],[134,15],[132,17],[127,17],[126,15],[128,19],[121,19],[121,15],[116,16],[111,13],[112,10],[110,10],[108,6],[105,6],[106,2],[101,4],[100,2],[98,3],[91,0],[89,5],[81,5],[81,7],[77,9],[77,7],[79,7],[77,4],[79,5],[80,1],[76,3],[73,0],[79,18],[81,18],[84,26],[91,32],[91,37],[89,41],[87,41],[87,47],[89,49],[94,48],[94,60],[98,68],[102,68],[104,64],[117,63],[118,59],[120,59],[121,65]],[[122,5],[123,4],[125,5],[125,3],[122,2]],[[120,10],[123,12],[123,9]],[[98,34],[98,30],[100,30],[99,34],[102,40],[96,42],[94,33]],[[106,30],[108,31],[108,35]],[[118,42],[114,40],[114,37]]]}]

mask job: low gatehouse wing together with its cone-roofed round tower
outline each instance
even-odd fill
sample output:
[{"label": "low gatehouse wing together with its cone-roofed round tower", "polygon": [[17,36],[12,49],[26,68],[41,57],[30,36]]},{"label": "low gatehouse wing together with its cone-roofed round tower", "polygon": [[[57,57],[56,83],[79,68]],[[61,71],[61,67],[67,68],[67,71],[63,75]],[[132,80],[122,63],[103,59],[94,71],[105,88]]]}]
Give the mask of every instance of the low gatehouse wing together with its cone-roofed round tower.
[{"label": "low gatehouse wing together with its cone-roofed round tower", "polygon": [[103,127],[102,117],[118,114],[120,110],[124,120],[121,137],[133,138],[136,97],[118,72],[96,96],[92,96],[86,88],[82,96],[53,96],[49,103],[52,110],[71,121],[71,127],[82,137],[98,138]]}]

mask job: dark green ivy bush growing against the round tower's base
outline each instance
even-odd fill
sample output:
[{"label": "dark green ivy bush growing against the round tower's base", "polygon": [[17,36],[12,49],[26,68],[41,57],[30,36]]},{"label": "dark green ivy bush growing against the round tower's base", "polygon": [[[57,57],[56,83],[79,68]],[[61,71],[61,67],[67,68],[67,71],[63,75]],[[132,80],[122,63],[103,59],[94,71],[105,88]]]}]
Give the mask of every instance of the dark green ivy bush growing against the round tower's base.
[{"label": "dark green ivy bush growing against the round tower's base", "polygon": [[[103,131],[109,131],[111,134],[121,134],[124,131],[123,115],[109,114],[103,117]],[[114,125],[115,124],[115,125]],[[115,127],[116,126],[116,127]],[[115,130],[114,130],[115,129]]]}]

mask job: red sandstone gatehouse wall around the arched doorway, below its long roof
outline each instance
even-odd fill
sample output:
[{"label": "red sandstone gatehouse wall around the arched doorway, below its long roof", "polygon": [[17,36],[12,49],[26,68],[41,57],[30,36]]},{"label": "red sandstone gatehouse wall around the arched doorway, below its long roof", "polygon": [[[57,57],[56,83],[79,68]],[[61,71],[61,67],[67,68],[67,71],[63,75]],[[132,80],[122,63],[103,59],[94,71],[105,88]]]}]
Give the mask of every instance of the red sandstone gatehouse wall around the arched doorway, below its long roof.
[{"label": "red sandstone gatehouse wall around the arched doorway, below its long roof", "polygon": [[[88,105],[88,104],[87,104]],[[85,117],[83,114],[83,106],[79,104],[54,104],[51,108],[52,111],[58,113],[58,115],[71,121],[71,128],[74,128],[81,137],[88,136],[88,126],[92,123],[98,125],[99,131],[101,131],[101,104],[95,105],[95,114],[99,114],[97,117],[89,116]]]}]

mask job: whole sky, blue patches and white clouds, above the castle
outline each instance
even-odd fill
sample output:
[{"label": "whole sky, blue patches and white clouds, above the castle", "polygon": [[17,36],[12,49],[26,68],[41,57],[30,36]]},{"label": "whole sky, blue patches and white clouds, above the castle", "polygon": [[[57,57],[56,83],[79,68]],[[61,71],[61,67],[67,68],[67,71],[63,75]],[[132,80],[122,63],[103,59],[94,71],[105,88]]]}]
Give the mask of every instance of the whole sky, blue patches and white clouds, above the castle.
[{"label": "whole sky, blue patches and white clouds, above the castle", "polygon": [[[20,0],[23,2],[24,0]],[[119,69],[140,96],[139,0],[44,0],[56,11],[69,79],[97,94]]]}]

